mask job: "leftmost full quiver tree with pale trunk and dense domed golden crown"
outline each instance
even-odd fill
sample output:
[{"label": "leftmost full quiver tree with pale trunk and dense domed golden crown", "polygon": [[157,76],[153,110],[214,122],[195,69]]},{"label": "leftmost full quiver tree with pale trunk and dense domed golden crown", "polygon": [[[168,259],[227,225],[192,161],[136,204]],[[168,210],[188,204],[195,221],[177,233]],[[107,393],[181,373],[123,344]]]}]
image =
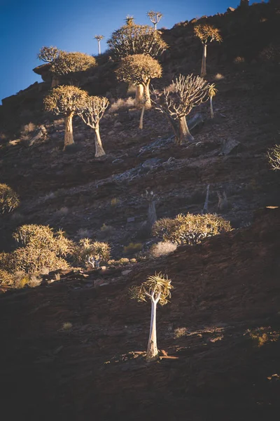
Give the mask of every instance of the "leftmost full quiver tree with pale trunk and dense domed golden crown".
[{"label": "leftmost full quiver tree with pale trunk and dense domed golden crown", "polygon": [[45,111],[56,115],[64,116],[64,149],[68,145],[73,145],[73,125],[72,120],[87,103],[87,93],[76,86],[58,86],[52,89],[50,95],[45,97]]}]

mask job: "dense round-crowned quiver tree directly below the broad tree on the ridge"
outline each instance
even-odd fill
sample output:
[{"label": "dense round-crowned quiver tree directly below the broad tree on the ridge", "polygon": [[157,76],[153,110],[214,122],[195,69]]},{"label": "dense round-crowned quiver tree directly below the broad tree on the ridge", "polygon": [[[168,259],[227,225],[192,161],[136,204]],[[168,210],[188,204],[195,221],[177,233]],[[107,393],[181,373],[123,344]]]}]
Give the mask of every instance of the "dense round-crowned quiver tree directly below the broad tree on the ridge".
[{"label": "dense round-crowned quiver tree directly below the broad tree on the ridge", "polygon": [[116,74],[120,81],[132,82],[134,85],[143,86],[143,98],[138,98],[138,105],[141,105],[142,109],[151,108],[149,88],[151,79],[162,76],[162,67],[158,60],[144,54],[127,55],[121,60]]}]

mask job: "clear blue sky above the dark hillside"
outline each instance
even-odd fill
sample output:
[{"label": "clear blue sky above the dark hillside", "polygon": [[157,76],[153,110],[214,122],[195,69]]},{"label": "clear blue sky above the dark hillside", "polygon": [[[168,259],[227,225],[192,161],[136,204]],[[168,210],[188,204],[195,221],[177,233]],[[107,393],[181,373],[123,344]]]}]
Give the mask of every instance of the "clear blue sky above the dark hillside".
[{"label": "clear blue sky above the dark hillside", "polygon": [[106,39],[133,15],[139,24],[150,21],[146,13],[160,11],[158,27],[202,15],[223,13],[239,0],[0,0],[0,100],[41,81],[32,69],[43,64],[36,58],[42,46],[97,54],[95,34]]}]

